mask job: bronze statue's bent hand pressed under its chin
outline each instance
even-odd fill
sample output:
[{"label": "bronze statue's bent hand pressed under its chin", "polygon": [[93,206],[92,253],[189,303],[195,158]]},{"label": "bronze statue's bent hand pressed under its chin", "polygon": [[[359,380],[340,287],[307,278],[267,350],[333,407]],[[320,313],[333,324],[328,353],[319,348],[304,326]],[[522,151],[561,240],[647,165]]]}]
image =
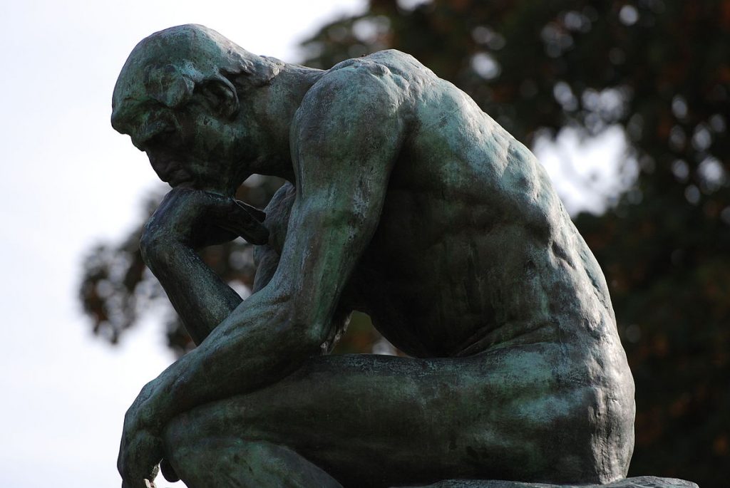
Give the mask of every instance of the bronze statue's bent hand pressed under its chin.
[{"label": "bronze statue's bent hand pressed under its chin", "polygon": [[192,188],[173,188],[162,200],[142,233],[142,251],[165,242],[193,248],[221,244],[243,237],[265,244],[269,231],[264,212],[234,198]]}]

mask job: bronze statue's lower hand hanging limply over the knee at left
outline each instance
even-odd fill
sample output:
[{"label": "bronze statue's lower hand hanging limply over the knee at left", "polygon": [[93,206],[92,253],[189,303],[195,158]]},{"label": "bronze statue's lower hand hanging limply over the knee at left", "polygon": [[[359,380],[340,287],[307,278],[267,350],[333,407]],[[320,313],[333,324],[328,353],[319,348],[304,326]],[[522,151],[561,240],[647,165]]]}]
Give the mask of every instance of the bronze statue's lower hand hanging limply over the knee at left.
[{"label": "bronze statue's lower hand hanging limply over the knee at left", "polygon": [[155,427],[153,383],[147,384],[124,416],[122,442],[117,468],[122,476],[122,488],[145,488],[145,479],[154,481],[162,459],[161,427]]}]

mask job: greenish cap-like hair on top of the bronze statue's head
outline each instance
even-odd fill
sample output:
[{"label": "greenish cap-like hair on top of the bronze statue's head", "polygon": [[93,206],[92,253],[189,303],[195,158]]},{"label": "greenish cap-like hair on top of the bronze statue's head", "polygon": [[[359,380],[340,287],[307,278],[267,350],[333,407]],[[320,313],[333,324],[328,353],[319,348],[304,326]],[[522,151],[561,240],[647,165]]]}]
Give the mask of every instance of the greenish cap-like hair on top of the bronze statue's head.
[{"label": "greenish cap-like hair on top of the bronze statue's head", "polygon": [[112,110],[129,98],[183,106],[196,85],[210,80],[236,92],[242,81],[248,86],[266,85],[282,66],[281,61],[249,53],[204,26],[166,28],[142,39],[132,50],[115,85]]}]

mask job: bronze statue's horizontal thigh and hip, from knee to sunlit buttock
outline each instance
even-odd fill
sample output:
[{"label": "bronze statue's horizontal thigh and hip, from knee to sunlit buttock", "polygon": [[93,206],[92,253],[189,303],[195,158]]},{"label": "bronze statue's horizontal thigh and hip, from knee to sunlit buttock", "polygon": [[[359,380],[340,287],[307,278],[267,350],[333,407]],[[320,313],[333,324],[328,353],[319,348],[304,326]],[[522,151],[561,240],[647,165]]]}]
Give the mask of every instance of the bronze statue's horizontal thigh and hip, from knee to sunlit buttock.
[{"label": "bronze statue's horizontal thigh and hip, from knee to sunlit buttock", "polygon": [[277,384],[177,417],[166,449],[190,438],[267,441],[347,487],[605,483],[626,475],[633,386],[611,357],[589,364],[582,354],[533,344],[463,358],[317,357]]}]

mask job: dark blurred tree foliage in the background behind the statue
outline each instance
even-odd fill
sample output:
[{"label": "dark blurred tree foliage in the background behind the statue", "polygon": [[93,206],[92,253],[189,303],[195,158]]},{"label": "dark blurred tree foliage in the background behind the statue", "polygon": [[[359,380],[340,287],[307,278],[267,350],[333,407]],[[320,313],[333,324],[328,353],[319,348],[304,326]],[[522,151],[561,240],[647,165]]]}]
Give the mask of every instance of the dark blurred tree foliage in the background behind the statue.
[{"label": "dark blurred tree foliage in the background behind the statue", "polygon": [[[326,69],[386,48],[414,55],[469,93],[517,139],[621,128],[623,171],[637,176],[602,215],[575,223],[601,263],[637,384],[631,474],[723,487],[730,459],[730,0],[370,0],[363,15],[302,43]],[[215,26],[212,26],[215,27]],[[228,33],[235,39],[234,33]],[[280,181],[255,177],[239,198],[263,207]],[[596,185],[600,182],[585,182]],[[150,198],[148,210],[160,195]],[[139,255],[139,228],[85,260],[80,297],[93,330],[116,343],[164,297]],[[204,259],[246,293],[243,241]],[[192,343],[170,314],[169,346]],[[388,349],[358,315],[338,352]]]}]

